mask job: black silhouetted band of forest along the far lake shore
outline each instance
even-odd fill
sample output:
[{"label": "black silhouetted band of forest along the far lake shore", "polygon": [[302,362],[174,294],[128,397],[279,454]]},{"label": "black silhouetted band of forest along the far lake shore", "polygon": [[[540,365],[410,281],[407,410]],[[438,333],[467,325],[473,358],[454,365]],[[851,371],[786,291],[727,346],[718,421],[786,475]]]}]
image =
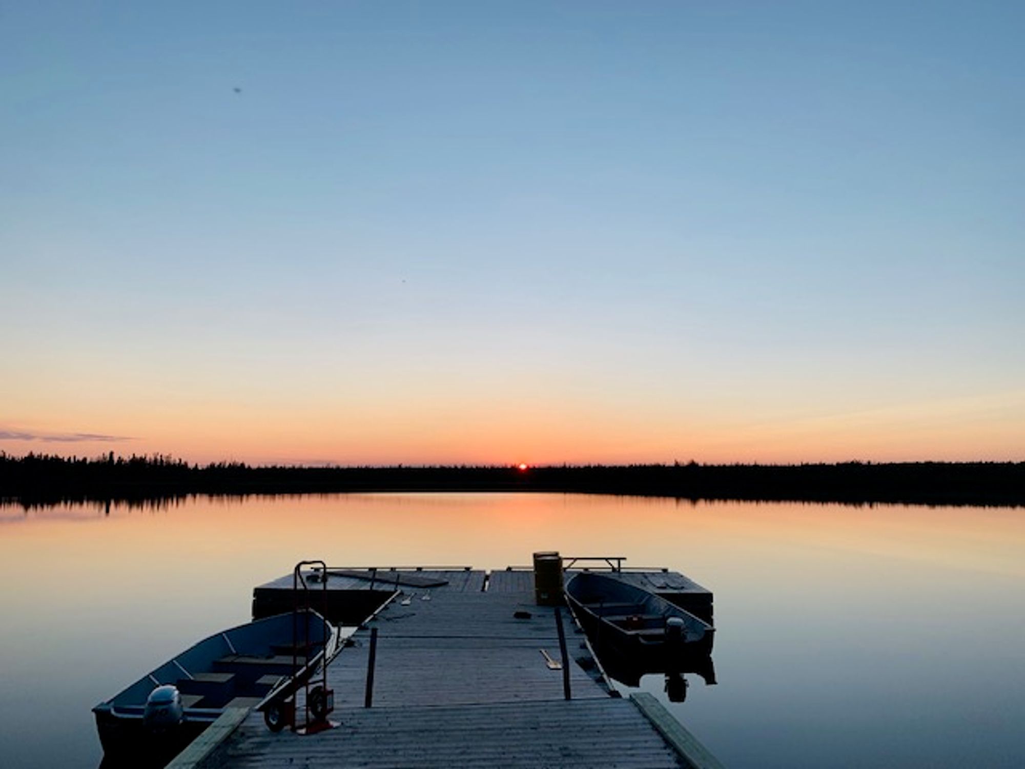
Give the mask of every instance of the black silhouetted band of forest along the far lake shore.
[{"label": "black silhouetted band of forest along the far lake shore", "polygon": [[166,455],[0,452],[0,499],[24,505],[189,495],[533,491],[855,504],[1025,505],[1025,462],[287,467]]}]

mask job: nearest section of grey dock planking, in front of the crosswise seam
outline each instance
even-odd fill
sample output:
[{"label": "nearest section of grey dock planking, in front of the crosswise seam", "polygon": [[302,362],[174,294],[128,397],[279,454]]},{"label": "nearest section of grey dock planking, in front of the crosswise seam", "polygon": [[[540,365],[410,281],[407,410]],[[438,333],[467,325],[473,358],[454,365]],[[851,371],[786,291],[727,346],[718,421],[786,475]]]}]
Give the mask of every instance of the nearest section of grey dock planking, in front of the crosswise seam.
[{"label": "nearest section of grey dock planking, in front of the crosswise seam", "polygon": [[334,718],[338,728],[301,737],[273,734],[250,717],[221,760],[240,769],[682,766],[625,699],[356,709]]}]

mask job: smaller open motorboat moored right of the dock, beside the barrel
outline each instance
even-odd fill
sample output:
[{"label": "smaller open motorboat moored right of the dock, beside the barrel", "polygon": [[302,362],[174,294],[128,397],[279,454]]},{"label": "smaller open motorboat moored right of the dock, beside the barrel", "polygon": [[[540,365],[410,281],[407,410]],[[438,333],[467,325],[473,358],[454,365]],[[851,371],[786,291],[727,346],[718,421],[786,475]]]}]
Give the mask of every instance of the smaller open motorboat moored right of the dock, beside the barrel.
[{"label": "smaller open motorboat moored right of the dock, beside the barrel", "polygon": [[566,600],[588,638],[624,660],[671,671],[680,657],[711,653],[708,622],[618,576],[575,574]]}]

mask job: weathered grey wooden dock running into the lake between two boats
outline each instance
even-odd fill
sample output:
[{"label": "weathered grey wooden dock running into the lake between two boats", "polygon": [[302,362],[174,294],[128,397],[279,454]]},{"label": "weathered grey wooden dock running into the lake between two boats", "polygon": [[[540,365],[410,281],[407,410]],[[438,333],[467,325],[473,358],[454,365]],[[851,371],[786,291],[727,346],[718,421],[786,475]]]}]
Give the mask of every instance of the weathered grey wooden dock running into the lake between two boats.
[{"label": "weathered grey wooden dock running into the lake between two boats", "polygon": [[[205,740],[194,757],[187,751],[175,768],[720,766],[655,698],[620,697],[563,609],[571,698],[565,697],[556,609],[535,604],[532,572],[387,572],[328,579],[342,614],[352,611],[346,594],[363,606],[366,594],[380,592],[384,604],[329,665],[335,728],[275,733],[258,713],[234,714],[216,732],[216,744]],[[704,600],[703,589],[674,572],[638,571],[630,579],[687,594],[691,603]],[[312,588],[320,593],[324,585]],[[254,612],[261,601],[264,608],[276,605],[274,591],[290,589],[291,576],[256,589]]]}]

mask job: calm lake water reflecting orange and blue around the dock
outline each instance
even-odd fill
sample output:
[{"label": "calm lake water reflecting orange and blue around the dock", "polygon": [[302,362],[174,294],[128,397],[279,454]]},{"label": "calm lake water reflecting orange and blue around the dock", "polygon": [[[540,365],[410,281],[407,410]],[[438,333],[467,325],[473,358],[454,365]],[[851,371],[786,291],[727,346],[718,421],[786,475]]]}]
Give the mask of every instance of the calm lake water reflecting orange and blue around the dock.
[{"label": "calm lake water reflecting orange and blue around the dock", "polygon": [[716,686],[668,703],[731,767],[1025,765],[1025,511],[560,494],[0,507],[0,765],[95,767],[90,709],[332,565],[622,555],[715,594]]}]

